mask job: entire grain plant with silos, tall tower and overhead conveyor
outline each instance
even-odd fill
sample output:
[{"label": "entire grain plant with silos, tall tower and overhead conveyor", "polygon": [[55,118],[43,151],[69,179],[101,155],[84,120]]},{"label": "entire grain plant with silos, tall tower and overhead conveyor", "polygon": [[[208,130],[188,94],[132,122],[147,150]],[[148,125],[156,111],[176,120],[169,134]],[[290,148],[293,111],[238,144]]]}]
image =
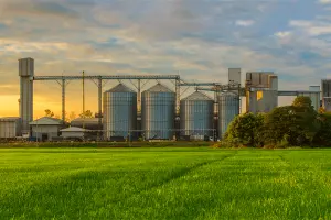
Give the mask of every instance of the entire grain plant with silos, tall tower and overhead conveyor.
[{"label": "entire grain plant with silos, tall tower and overhead conveyor", "polygon": [[[32,136],[40,141],[62,138],[94,136],[104,141],[120,140],[210,140],[222,139],[232,120],[239,114],[242,97],[246,97],[246,112],[269,112],[278,106],[279,96],[308,96],[316,110],[320,100],[331,110],[331,80],[309,90],[278,89],[278,76],[270,72],[248,72],[242,86],[241,68],[228,69],[227,84],[216,80],[188,82],[179,75],[83,75],[35,76],[34,59],[19,59],[20,118],[0,119],[0,139]],[[86,80],[97,86],[98,111],[96,118],[78,118],[65,122],[66,88],[71,80]],[[104,90],[107,80],[118,80],[115,87]],[[146,88],[147,81],[157,82]],[[42,118],[33,121],[34,81],[57,81],[62,88],[62,120]],[[124,84],[126,81],[127,84]],[[173,88],[163,84],[171,81]],[[128,84],[134,86],[130,87]],[[189,88],[194,92],[183,98]],[[104,90],[104,92],[103,92]],[[213,92],[213,97],[205,92]],[[61,134],[62,133],[62,134]],[[93,139],[94,139],[93,138]]]}]

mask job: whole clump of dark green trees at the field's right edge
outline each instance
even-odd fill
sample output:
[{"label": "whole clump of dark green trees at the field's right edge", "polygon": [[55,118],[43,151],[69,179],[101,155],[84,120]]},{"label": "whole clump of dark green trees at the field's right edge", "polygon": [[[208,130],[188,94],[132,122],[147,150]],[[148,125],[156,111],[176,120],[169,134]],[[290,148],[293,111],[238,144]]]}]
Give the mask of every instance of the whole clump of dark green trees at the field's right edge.
[{"label": "whole clump of dark green trees at the field's right edge", "polygon": [[237,116],[221,146],[288,147],[331,146],[331,113],[317,112],[309,97],[297,97],[292,105],[269,113]]}]

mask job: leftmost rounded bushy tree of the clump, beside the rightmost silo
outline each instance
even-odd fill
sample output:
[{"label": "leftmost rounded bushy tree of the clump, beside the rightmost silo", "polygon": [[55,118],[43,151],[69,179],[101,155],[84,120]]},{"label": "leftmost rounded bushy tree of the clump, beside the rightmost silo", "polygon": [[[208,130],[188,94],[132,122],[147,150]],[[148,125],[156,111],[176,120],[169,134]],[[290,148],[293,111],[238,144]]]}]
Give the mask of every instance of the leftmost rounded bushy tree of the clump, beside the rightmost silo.
[{"label": "leftmost rounded bushy tree of the clump, beside the rightmost silo", "polygon": [[225,141],[229,144],[245,146],[260,146],[260,132],[265,114],[245,113],[237,116],[228,125]]}]

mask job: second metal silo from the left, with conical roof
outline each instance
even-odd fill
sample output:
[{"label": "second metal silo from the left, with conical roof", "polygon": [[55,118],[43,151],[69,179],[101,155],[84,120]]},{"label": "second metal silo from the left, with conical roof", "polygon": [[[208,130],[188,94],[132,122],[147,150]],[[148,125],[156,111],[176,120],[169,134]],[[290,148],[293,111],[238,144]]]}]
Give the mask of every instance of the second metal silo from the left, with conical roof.
[{"label": "second metal silo from the left, with conical roof", "polygon": [[175,94],[157,84],[141,94],[141,129],[146,140],[170,140],[174,129]]}]

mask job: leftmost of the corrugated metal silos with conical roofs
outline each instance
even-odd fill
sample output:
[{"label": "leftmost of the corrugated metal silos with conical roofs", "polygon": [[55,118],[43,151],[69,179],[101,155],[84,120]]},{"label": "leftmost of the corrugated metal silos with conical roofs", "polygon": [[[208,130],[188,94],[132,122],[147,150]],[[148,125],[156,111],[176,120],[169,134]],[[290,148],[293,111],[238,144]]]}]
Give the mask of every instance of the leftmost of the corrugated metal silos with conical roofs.
[{"label": "leftmost of the corrugated metal silos with conical roofs", "polygon": [[136,138],[137,92],[122,84],[104,92],[104,136],[106,140]]}]

